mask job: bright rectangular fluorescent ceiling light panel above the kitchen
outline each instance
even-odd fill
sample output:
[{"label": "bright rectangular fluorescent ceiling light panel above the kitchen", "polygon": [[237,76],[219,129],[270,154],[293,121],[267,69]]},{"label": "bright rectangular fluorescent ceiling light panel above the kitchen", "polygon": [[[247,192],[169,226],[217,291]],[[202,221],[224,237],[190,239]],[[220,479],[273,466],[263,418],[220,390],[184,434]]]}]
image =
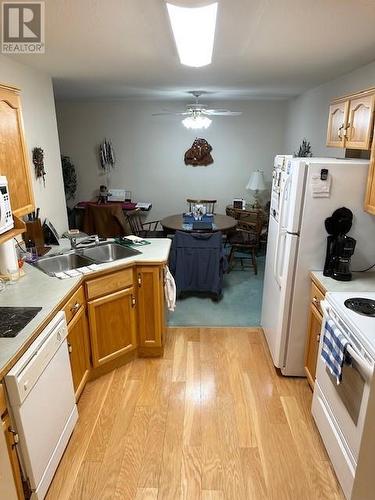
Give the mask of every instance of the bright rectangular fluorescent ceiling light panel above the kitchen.
[{"label": "bright rectangular fluorescent ceiling light panel above the kitchen", "polygon": [[217,2],[194,8],[167,3],[167,9],[181,64],[195,68],[211,64]]}]

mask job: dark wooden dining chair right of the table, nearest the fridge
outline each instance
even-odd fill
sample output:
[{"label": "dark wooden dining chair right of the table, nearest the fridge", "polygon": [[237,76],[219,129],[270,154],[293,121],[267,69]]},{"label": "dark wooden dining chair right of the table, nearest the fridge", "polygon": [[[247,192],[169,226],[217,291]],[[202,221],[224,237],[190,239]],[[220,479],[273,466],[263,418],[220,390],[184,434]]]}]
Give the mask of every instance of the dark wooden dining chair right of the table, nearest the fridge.
[{"label": "dark wooden dining chair right of the table, nearest the fridge", "polygon": [[[258,274],[257,250],[260,245],[260,236],[263,228],[263,218],[260,211],[251,211],[246,214],[246,219],[239,219],[235,232],[228,235],[228,243],[231,246],[229,252],[229,270],[234,267],[236,252],[241,252],[238,258],[241,261],[241,267],[244,269],[244,259],[251,259],[251,267],[254,268],[254,274]],[[250,253],[250,257],[244,257],[243,253]]]}]

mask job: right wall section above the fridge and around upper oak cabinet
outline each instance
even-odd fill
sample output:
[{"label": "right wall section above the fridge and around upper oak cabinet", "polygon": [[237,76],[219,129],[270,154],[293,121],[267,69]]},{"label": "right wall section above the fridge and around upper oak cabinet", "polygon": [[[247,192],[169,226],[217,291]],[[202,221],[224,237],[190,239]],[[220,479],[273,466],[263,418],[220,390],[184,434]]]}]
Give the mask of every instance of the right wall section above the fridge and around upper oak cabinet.
[{"label": "right wall section above the fridge and around upper oak cabinet", "polygon": [[335,97],[375,86],[375,62],[308,90],[289,102],[287,153],[298,151],[303,138],[311,142],[314,156],[345,155],[344,149],[326,147],[328,106]]}]

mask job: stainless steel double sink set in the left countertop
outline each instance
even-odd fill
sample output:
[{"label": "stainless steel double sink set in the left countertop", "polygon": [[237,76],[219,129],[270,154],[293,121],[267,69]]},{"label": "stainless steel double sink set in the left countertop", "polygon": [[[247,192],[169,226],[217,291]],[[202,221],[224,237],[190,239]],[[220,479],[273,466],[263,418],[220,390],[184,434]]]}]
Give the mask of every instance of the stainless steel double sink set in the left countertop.
[{"label": "stainless steel double sink set in the left countertop", "polygon": [[114,262],[140,253],[134,248],[124,247],[117,243],[99,243],[99,245],[70,250],[59,255],[41,257],[34,266],[54,276],[58,272],[71,271],[91,264]]}]

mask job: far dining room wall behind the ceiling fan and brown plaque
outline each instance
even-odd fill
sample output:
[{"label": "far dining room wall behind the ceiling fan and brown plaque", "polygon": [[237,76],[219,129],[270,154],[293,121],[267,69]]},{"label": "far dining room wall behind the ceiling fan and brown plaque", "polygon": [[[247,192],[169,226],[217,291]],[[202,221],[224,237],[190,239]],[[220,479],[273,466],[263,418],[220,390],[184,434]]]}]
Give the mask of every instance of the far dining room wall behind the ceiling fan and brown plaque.
[{"label": "far dining room wall behind the ceiling fan and brown plaque", "polygon": [[[270,180],[273,157],[283,151],[286,102],[210,103],[239,109],[238,117],[214,117],[206,131],[187,130],[180,117],[153,117],[181,103],[117,101],[58,102],[61,151],[69,155],[78,174],[77,200],[93,197],[106,184],[98,164],[97,147],[111,139],[117,158],[109,186],[131,190],[133,199],[151,201],[151,218],[186,210],[186,198],[218,200],[223,212],[233,197],[250,198],[245,186],[250,173],[263,169]],[[214,163],[184,164],[185,151],[195,137],[213,147]]]}]

